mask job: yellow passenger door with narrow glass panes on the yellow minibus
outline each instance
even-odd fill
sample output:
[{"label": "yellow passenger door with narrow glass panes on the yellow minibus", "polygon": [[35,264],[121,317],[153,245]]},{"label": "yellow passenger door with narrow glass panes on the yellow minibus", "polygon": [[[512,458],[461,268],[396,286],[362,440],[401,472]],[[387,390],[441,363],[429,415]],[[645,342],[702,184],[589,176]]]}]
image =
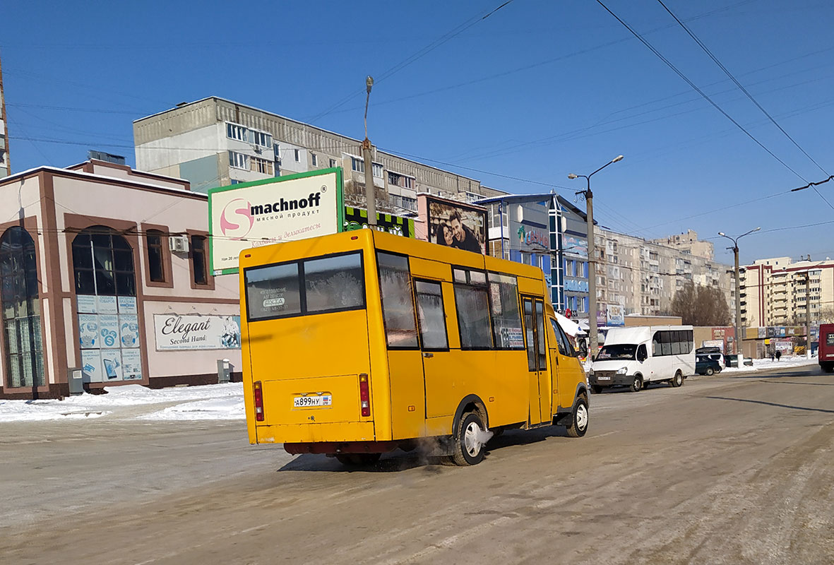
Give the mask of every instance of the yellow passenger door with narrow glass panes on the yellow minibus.
[{"label": "yellow passenger door with narrow glass panes on the yellow minibus", "polygon": [[539,298],[522,296],[527,346],[527,370],[530,374],[530,423],[550,421],[550,372],[547,371],[545,343],[545,305]]}]

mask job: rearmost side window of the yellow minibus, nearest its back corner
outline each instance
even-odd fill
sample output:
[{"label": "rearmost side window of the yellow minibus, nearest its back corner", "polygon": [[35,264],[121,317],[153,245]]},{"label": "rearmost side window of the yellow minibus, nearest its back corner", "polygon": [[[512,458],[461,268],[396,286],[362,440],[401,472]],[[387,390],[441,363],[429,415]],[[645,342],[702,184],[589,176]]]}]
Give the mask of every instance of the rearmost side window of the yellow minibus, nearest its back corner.
[{"label": "rearmost side window of the yellow minibus, nearest its back corner", "polygon": [[416,348],[417,323],[408,257],[377,253],[385,337],[391,348]]}]

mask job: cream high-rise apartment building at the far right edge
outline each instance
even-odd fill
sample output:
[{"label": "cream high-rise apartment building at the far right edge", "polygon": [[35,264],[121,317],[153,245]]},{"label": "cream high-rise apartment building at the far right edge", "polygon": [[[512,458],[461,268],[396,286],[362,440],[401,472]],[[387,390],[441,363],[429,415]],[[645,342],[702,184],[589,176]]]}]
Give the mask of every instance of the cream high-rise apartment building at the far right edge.
[{"label": "cream high-rise apartment building at the far right edge", "polygon": [[741,323],[746,327],[834,321],[834,260],[773,257],[741,268]]}]

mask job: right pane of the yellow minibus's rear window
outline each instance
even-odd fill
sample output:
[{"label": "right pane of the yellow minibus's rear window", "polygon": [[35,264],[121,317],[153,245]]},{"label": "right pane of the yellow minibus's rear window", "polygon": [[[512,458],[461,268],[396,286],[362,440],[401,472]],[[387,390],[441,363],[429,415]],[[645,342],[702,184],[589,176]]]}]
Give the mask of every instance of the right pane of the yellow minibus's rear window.
[{"label": "right pane of the yellow minibus's rear window", "polygon": [[364,308],[362,255],[304,261],[307,313]]}]

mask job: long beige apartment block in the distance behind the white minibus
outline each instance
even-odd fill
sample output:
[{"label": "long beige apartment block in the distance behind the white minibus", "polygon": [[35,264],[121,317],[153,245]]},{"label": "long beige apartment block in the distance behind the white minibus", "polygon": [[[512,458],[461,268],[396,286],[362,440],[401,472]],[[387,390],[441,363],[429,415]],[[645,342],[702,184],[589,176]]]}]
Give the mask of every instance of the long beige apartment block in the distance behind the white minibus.
[{"label": "long beige apartment block in the distance behind the white minibus", "polygon": [[662,315],[677,290],[691,281],[717,286],[732,312],[736,307],[732,267],[716,262],[711,242],[697,233],[643,240],[600,229],[595,234],[599,260],[596,288],[600,304],[619,305],[625,315]]}]

